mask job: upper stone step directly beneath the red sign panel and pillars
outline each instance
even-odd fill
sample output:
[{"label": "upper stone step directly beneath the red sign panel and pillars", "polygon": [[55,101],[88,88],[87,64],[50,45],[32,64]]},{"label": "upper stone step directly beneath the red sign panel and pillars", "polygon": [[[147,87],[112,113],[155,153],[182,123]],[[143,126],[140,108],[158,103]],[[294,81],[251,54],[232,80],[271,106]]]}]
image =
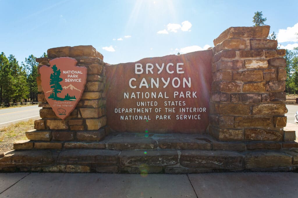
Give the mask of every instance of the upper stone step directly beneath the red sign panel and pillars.
[{"label": "upper stone step directly beneath the red sign panel and pillars", "polygon": [[13,144],[13,149],[108,149],[108,150],[280,150],[285,148],[298,148],[297,142],[218,142],[206,138],[186,137],[119,137],[110,136],[98,142],[81,141],[33,141],[20,140]]}]

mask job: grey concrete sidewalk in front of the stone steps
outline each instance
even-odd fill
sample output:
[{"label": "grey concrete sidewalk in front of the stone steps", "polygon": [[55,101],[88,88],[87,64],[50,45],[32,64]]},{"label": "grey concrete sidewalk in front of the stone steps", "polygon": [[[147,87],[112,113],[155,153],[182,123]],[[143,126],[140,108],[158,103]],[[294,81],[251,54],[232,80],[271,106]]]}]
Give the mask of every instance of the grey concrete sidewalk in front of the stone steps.
[{"label": "grey concrete sidewalk in front of the stone steps", "polygon": [[1,173],[0,197],[298,197],[298,173]]}]

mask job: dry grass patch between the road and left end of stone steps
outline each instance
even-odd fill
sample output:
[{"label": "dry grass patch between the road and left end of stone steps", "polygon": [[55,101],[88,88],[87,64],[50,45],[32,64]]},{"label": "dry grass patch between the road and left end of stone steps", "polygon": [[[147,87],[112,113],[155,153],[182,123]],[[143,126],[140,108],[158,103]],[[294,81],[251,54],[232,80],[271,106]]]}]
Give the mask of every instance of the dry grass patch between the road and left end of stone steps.
[{"label": "dry grass patch between the road and left end of stone steps", "polygon": [[13,142],[27,139],[25,132],[34,129],[34,120],[21,121],[0,129],[0,153],[13,149]]}]

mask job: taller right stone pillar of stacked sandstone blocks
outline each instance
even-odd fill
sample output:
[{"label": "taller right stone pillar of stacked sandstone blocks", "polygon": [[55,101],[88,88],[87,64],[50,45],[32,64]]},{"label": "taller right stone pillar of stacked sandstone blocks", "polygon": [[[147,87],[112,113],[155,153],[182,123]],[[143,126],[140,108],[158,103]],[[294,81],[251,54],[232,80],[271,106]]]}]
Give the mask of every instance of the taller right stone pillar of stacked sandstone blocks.
[{"label": "taller right stone pillar of stacked sandstone blocks", "polygon": [[209,134],[221,141],[283,141],[284,49],[270,26],[230,27],[213,43]]}]

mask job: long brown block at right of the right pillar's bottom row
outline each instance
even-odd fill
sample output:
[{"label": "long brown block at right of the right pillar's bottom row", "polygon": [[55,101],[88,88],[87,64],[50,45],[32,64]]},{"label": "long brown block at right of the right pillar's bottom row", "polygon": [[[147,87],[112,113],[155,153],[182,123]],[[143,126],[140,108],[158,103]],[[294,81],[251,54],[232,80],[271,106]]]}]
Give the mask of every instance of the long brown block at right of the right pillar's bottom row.
[{"label": "long brown block at right of the right pillar's bottom row", "polygon": [[247,128],[245,129],[244,138],[247,140],[281,141],[283,136],[278,131],[259,128]]}]

